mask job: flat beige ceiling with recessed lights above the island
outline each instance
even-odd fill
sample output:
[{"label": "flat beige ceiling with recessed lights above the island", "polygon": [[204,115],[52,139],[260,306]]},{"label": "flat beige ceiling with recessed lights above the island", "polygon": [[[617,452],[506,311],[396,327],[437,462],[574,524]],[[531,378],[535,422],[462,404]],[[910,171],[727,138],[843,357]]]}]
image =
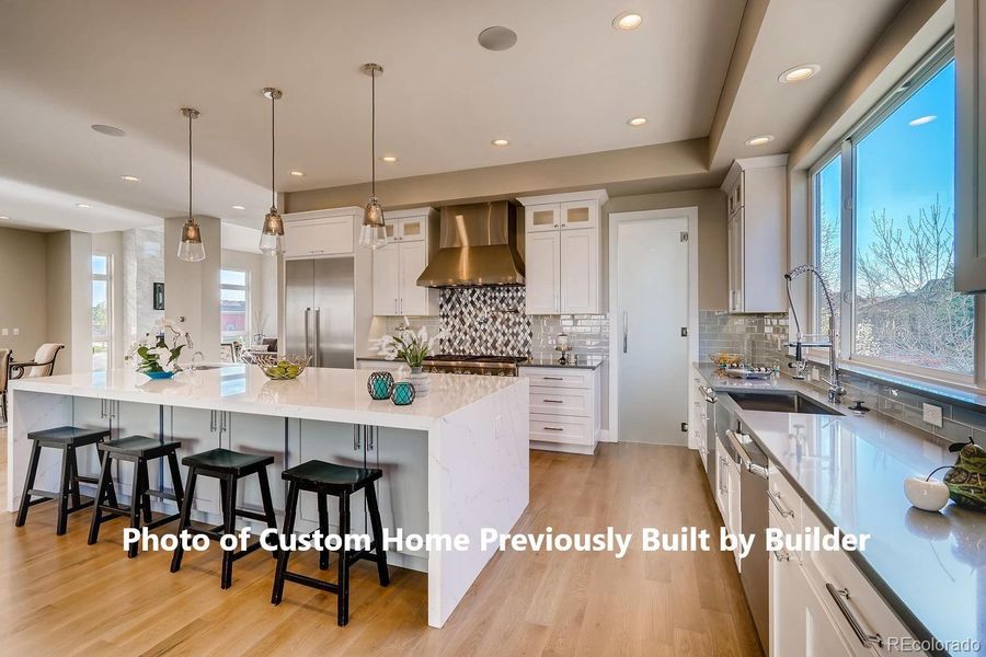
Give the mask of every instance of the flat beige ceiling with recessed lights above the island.
[{"label": "flat beige ceiling with recessed lights above the island", "polygon": [[[285,94],[278,191],[366,181],[366,61],[386,69],[378,155],[399,158],[378,163],[381,178],[703,137],[744,5],[635,0],[642,26],[619,32],[623,0],[3,2],[0,221],[102,231],[185,214],[179,108],[193,106],[195,212],[257,226],[270,205],[266,85]],[[491,25],[516,31],[517,45],[482,49]],[[633,116],[649,123],[630,127]],[[498,137],[511,145],[491,146]]]}]

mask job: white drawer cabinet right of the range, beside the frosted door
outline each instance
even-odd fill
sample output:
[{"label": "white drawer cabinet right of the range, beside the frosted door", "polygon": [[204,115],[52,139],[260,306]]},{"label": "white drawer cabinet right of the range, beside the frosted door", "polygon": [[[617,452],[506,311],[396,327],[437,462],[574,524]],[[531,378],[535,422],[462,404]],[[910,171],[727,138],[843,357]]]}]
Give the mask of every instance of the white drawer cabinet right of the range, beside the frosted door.
[{"label": "white drawer cabinet right of the range, beside the frosted door", "polygon": [[601,427],[599,368],[521,367],[530,382],[530,447],[591,454]]}]

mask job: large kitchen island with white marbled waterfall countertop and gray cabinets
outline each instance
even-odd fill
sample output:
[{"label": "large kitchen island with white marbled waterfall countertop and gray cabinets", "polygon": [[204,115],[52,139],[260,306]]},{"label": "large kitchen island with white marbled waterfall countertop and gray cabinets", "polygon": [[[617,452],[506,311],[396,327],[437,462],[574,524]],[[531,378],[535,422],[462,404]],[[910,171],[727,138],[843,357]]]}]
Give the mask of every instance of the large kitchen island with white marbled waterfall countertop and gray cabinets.
[{"label": "large kitchen island with white marbled waterfall countertop and gray cabinets", "polygon": [[[216,447],[270,454],[275,459],[272,482],[284,469],[310,459],[380,468],[377,497],[391,535],[470,539],[465,551],[388,553],[393,565],[428,573],[428,624],[440,627],[494,554],[480,549],[481,530],[508,532],[527,507],[528,383],[431,374],[427,396],[395,406],[371,400],[366,378],[360,370],[309,368],[297,380],[271,381],[255,367],[229,366],[183,371],[171,380],[116,369],[12,382],[8,510],[20,503],[27,434],[61,425],[106,427],[113,438],[180,440],[180,457]],[[57,489],[59,468],[57,454],[43,453],[36,487]],[[94,450],[81,450],[80,471],[96,468]],[[133,473],[123,466],[115,477],[126,503]],[[150,486],[171,488],[163,468],[150,473]],[[206,481],[197,488],[194,519],[218,522],[218,484]],[[282,514],[285,489],[272,488]],[[359,497],[354,496],[354,508],[364,504]],[[158,511],[175,511],[171,502],[157,505]],[[239,506],[259,509],[259,491],[248,486]],[[331,517],[330,525],[337,528],[337,518]],[[302,496],[296,528],[309,532],[317,526],[316,500]],[[353,514],[353,531],[366,531],[364,514]]]}]

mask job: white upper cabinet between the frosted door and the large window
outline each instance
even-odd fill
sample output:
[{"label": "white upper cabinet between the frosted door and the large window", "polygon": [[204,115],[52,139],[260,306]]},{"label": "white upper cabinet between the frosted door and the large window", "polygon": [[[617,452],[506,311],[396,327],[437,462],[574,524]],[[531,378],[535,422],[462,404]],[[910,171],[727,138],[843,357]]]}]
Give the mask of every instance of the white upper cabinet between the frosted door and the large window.
[{"label": "white upper cabinet between the frosted door and the large window", "polygon": [[736,160],[722,191],[729,222],[730,312],[784,312],[788,155]]}]

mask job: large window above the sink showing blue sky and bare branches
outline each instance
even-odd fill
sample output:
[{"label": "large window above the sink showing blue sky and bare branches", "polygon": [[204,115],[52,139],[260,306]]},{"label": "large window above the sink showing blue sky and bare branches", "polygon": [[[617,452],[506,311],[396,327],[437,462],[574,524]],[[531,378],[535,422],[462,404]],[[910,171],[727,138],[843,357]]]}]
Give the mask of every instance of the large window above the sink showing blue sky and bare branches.
[{"label": "large window above the sink showing blue sky and bare branches", "polygon": [[[850,319],[835,320],[842,358],[973,380],[973,297],[953,287],[954,183],[955,62],[945,43],[813,170],[815,264],[836,314]],[[816,330],[827,331],[819,289],[813,309]]]}]

